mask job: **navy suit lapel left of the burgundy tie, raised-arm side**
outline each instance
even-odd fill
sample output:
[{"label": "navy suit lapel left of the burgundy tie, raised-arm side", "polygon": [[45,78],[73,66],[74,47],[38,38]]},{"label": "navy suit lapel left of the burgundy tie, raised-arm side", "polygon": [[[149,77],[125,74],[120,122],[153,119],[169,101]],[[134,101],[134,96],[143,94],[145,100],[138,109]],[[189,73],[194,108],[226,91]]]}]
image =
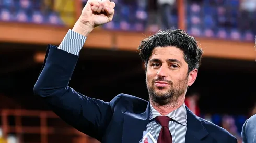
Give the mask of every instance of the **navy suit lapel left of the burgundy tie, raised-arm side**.
[{"label": "navy suit lapel left of the burgundy tie, raised-arm side", "polygon": [[150,103],[142,114],[125,112],[123,123],[122,143],[138,143],[142,139],[143,131],[149,122]]}]

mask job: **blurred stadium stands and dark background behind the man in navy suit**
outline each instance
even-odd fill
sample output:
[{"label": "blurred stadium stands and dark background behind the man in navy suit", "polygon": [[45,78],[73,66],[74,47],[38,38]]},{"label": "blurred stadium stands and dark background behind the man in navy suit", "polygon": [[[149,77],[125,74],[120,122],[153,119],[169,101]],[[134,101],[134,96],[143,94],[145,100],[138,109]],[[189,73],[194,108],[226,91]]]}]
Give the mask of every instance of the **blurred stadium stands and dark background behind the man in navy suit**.
[{"label": "blurred stadium stands and dark background behind the man in navy suit", "polygon": [[[104,101],[119,93],[148,99],[139,41],[159,29],[184,29],[204,50],[185,103],[240,143],[243,123],[256,114],[256,1],[113,1],[114,20],[89,35],[69,85]],[[0,0],[0,142],[97,142],[33,95],[47,44],[60,44],[86,2]]]}]

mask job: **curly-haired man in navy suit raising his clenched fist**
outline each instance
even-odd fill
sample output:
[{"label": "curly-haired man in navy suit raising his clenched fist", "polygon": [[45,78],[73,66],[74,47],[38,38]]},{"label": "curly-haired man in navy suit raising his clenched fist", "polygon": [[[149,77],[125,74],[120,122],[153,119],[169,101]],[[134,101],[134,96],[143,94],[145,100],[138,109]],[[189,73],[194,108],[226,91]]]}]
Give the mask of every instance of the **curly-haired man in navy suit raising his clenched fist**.
[{"label": "curly-haired man in navy suit raising his clenched fist", "polygon": [[104,102],[68,86],[86,37],[113,19],[114,7],[109,0],[87,2],[59,47],[48,46],[34,94],[65,122],[102,143],[236,143],[225,129],[197,117],[184,104],[202,49],[183,30],[159,31],[139,45],[149,101],[119,94]]}]

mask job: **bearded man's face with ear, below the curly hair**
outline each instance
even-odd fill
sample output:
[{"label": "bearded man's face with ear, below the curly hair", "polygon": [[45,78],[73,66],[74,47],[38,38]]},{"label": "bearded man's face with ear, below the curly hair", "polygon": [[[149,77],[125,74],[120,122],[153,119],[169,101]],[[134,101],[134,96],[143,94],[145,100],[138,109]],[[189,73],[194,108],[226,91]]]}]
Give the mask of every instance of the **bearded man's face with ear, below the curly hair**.
[{"label": "bearded man's face with ear, below the curly hair", "polygon": [[188,74],[183,51],[176,47],[156,47],[149,57],[146,83],[150,100],[159,105],[175,103],[196,79],[197,69]]}]

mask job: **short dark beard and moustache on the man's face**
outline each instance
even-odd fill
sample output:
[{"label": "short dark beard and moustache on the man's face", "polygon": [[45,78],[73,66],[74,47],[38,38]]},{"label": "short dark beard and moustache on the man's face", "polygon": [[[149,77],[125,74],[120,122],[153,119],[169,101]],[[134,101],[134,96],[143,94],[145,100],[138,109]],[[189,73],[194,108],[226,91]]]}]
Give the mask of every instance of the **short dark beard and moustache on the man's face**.
[{"label": "short dark beard and moustache on the man's face", "polygon": [[[171,88],[168,90],[168,92],[162,92],[159,91],[158,93],[154,90],[154,82],[155,81],[165,81],[168,82],[171,86]],[[186,77],[185,80],[179,80],[177,86],[173,86],[172,81],[166,81],[164,79],[157,79],[152,80],[152,85],[148,88],[148,93],[150,100],[154,103],[156,103],[159,106],[164,105],[175,105],[178,103],[179,98],[186,92],[187,90],[187,81],[188,77]],[[158,87],[159,90],[163,89],[164,87]]]}]

